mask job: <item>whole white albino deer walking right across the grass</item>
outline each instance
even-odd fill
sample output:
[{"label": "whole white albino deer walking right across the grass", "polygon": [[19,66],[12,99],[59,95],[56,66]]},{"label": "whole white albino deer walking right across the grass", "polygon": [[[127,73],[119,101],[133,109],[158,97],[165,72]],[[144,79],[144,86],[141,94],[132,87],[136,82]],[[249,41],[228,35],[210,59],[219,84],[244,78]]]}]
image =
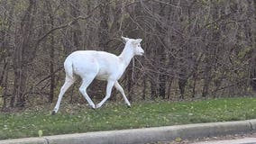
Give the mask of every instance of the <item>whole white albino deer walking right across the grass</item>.
[{"label": "whole white albino deer walking right across the grass", "polygon": [[[52,114],[58,112],[63,94],[65,94],[69,86],[76,80],[75,75],[82,78],[82,85],[79,87],[79,91],[87,99],[87,102],[93,109],[99,108],[105,103],[111,95],[113,86],[123,95],[125,103],[127,103],[129,107],[131,106],[131,103],[129,103],[123,92],[122,86],[119,85],[117,80],[123,75],[125,68],[129,65],[133,56],[142,55],[144,50],[140,44],[142,39],[134,40],[124,37],[122,37],[122,39],[125,41],[125,46],[119,56],[105,51],[79,50],[71,53],[69,57],[66,58],[64,62],[66,79],[60,89],[58,102]],[[87,86],[90,85],[95,78],[107,81],[105,98],[96,105],[87,94]]]}]

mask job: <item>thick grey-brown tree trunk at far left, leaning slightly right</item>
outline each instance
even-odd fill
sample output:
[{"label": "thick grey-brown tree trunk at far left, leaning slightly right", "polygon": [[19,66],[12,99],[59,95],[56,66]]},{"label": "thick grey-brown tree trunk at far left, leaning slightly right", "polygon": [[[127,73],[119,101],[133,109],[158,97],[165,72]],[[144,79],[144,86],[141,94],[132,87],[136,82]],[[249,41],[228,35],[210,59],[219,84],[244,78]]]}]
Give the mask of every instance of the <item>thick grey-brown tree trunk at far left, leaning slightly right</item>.
[{"label": "thick grey-brown tree trunk at far left, leaning slightly right", "polygon": [[20,26],[20,35],[16,40],[19,45],[14,50],[14,93],[11,97],[10,105],[24,106],[25,91],[28,76],[28,63],[32,61],[32,27],[35,13],[35,0],[29,1],[29,6],[25,11]]}]

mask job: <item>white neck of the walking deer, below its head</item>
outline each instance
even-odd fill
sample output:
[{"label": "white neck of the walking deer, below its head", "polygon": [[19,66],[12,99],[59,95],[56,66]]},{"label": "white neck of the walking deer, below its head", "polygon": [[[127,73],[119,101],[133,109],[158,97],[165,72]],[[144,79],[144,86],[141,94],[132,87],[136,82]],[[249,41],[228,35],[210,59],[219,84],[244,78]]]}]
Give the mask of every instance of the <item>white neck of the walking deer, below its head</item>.
[{"label": "white neck of the walking deer, below its head", "polygon": [[124,47],[122,53],[119,55],[119,58],[123,61],[124,66],[127,67],[132,60],[134,54],[132,48],[129,48],[127,46]]}]

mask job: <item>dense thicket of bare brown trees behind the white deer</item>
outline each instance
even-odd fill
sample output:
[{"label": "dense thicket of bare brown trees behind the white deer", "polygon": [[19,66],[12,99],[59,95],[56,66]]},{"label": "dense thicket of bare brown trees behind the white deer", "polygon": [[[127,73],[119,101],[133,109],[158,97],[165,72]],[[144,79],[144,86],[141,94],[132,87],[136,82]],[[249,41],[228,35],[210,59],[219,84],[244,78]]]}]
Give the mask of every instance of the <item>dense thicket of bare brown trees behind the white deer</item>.
[{"label": "dense thicket of bare brown trees behind the white deer", "polygon": [[[118,55],[121,36],[142,38],[145,50],[120,79],[131,101],[256,89],[256,0],[0,0],[0,107],[55,103],[65,58],[78,49]],[[64,99],[86,103],[79,85]],[[88,93],[101,99],[105,82]],[[115,91],[112,100],[123,101]]]}]

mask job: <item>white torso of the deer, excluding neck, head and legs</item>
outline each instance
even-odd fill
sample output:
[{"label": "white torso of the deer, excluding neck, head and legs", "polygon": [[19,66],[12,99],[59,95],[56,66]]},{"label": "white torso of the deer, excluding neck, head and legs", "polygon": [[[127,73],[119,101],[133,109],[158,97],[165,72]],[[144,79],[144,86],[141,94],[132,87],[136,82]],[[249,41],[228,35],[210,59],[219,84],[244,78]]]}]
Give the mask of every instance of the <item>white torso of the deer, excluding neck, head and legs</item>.
[{"label": "white torso of the deer, excluding neck, head and legs", "polygon": [[73,71],[78,76],[96,75],[97,79],[106,80],[118,75],[122,67],[114,54],[105,51],[80,50],[69,55],[65,62],[72,62]]}]

